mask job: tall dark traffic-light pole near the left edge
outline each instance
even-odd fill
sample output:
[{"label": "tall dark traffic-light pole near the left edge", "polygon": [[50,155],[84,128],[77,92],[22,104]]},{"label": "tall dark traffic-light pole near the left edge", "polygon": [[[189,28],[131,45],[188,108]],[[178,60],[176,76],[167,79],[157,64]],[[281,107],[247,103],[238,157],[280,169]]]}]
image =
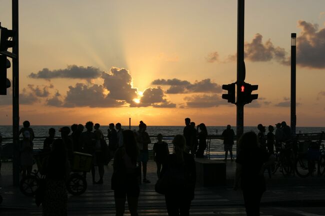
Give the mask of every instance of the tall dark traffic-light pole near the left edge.
[{"label": "tall dark traffic-light pole near the left edge", "polygon": [[12,41],[12,143],[13,163],[12,182],[14,186],[19,185],[19,40],[18,40],[18,0],[12,0],[12,30],[15,31]]}]

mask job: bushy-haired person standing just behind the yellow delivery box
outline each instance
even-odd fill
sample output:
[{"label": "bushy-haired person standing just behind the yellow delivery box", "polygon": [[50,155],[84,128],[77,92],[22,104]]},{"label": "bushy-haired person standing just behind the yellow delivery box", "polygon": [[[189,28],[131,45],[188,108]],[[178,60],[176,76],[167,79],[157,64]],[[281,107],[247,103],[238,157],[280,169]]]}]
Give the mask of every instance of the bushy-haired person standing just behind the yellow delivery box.
[{"label": "bushy-haired person standing just behind the yellow delivery box", "polygon": [[[87,129],[87,131],[81,133],[80,140],[79,140],[83,149],[82,152],[86,154],[90,154],[94,157],[96,135],[92,132],[93,123],[90,121],[87,122],[85,124],[85,128]],[[83,175],[86,176],[86,173],[83,172]],[[92,177],[92,184],[95,184],[94,160],[92,160],[92,165],[91,165],[91,177]]]}]

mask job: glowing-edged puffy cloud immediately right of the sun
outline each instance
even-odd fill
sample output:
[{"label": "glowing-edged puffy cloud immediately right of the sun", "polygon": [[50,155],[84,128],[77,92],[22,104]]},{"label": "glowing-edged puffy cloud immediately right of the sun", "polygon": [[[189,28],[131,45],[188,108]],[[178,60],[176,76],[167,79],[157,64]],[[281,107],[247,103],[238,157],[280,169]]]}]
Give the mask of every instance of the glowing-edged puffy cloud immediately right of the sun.
[{"label": "glowing-edged puffy cloud immediately right of the sun", "polygon": [[165,98],[163,89],[158,86],[156,88],[147,88],[144,90],[139,103],[132,103],[131,106],[134,107],[158,107],[158,108],[172,108],[176,107],[176,104],[171,103]]}]

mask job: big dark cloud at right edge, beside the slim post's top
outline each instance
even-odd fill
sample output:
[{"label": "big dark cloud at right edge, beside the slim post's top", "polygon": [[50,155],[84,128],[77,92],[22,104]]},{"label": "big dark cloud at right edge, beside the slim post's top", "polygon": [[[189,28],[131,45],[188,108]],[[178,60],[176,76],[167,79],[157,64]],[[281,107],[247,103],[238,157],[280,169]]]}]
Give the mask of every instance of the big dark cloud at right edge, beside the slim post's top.
[{"label": "big dark cloud at right edge, beside the slim post's top", "polygon": [[325,68],[325,28],[298,20],[301,32],[297,37],[296,63],[302,67]]}]

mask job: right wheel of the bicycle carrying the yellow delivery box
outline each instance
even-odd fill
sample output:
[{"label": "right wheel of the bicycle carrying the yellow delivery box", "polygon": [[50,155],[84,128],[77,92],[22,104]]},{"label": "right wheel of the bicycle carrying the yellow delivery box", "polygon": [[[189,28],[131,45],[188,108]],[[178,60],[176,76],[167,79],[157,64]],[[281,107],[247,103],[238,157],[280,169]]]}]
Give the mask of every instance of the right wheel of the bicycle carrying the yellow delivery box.
[{"label": "right wheel of the bicycle carrying the yellow delivery box", "polygon": [[79,196],[83,194],[87,189],[87,182],[83,176],[74,173],[70,175],[67,181],[66,189],[70,194],[74,196]]}]

